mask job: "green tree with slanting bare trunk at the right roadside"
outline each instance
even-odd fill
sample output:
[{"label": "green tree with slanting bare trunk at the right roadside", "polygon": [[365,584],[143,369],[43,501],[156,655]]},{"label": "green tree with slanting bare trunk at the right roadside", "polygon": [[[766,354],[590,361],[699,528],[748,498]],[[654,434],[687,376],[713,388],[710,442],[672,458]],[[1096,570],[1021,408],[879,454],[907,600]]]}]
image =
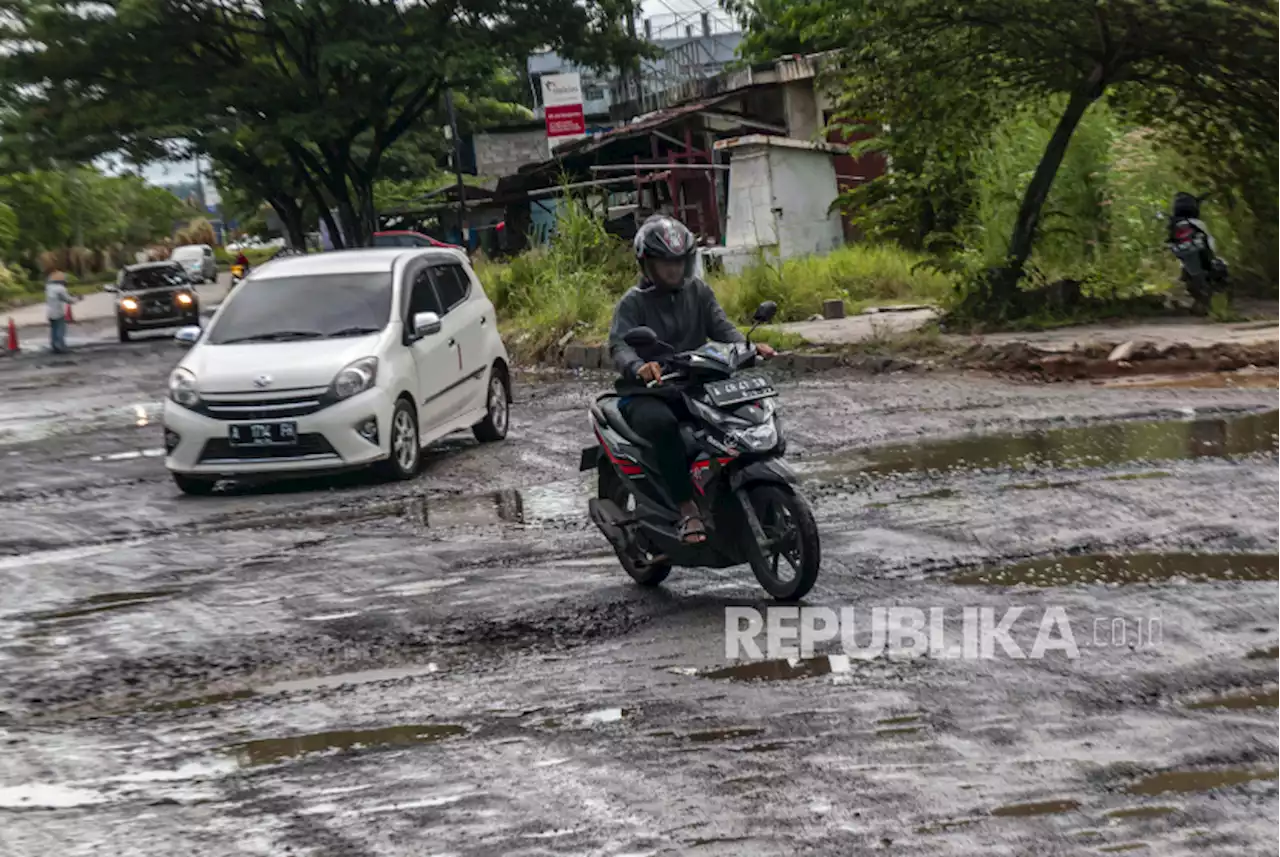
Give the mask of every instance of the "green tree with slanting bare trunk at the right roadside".
[{"label": "green tree with slanting bare trunk at the right roadside", "polygon": [[[769,4],[809,6],[803,0]],[[1082,118],[1105,95],[1161,96],[1181,105],[1183,128],[1226,123],[1233,133],[1272,128],[1280,96],[1276,0],[856,0],[792,12],[797,32],[840,47],[852,75],[890,92],[890,122],[934,128],[973,124],[966,98],[1043,101],[1062,107],[1027,180],[1006,261],[975,304],[1020,311],[1019,281],[1041,212]],[[838,32],[832,32],[832,31]],[[918,86],[922,74],[933,83]],[[896,93],[908,91],[910,97]]]}]

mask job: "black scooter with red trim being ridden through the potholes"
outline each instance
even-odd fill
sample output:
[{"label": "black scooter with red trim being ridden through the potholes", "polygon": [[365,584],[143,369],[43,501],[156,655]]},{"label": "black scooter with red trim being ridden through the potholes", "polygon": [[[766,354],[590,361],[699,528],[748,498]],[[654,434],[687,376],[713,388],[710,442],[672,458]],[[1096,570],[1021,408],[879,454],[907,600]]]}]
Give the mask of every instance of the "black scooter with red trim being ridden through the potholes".
[{"label": "black scooter with red trim being ridden through the potholes", "polygon": [[[755,327],[777,312],[760,304]],[[727,568],[749,563],[769,595],[805,596],[822,562],[818,527],[786,464],[786,439],[767,377],[739,375],[756,359],[755,345],[708,343],[675,353],[649,327],[626,334],[641,359],[663,366],[660,381],[680,386],[692,421],[681,426],[707,539],[680,537],[680,512],[662,484],[653,448],[626,422],[616,393],[591,405],[598,444],[582,450],[580,469],[599,476],[591,521],[609,540],[622,568],[641,586],[658,586],[672,565]],[[637,395],[644,395],[639,393]]]}]

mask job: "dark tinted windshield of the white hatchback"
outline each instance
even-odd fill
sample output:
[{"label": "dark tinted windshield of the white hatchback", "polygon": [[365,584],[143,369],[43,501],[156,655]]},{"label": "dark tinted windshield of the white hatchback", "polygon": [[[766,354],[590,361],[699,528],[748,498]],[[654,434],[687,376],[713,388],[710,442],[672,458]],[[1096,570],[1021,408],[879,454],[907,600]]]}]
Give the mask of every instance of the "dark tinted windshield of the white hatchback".
[{"label": "dark tinted windshield of the white hatchback", "polygon": [[246,280],[209,331],[211,344],[378,333],[390,321],[392,275],[319,274]]}]

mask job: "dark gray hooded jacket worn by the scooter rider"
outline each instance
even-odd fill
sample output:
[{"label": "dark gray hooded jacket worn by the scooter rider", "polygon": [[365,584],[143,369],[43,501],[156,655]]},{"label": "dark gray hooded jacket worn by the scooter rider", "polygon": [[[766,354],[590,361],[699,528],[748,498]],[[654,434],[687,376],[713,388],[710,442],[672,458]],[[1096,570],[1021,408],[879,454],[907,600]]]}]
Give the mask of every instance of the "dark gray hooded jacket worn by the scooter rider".
[{"label": "dark gray hooded jacket worn by the scooter rider", "polygon": [[724,315],[712,288],[698,278],[678,289],[662,289],[643,281],[632,287],[613,311],[609,327],[609,357],[625,381],[635,382],[644,361],[622,342],[632,327],[652,327],[658,339],[677,352],[700,348],[708,342],[742,343],[746,336]]}]

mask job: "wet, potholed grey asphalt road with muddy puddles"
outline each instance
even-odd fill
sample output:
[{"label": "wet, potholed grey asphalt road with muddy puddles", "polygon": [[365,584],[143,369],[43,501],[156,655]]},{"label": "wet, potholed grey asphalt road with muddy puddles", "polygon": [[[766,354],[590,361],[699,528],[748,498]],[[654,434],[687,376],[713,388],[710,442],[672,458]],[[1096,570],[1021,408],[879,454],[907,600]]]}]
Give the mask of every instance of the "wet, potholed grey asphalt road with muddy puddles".
[{"label": "wet, potholed grey asphalt road with muddy puddles", "polygon": [[408,484],[193,499],[177,354],[0,363],[3,854],[1275,852],[1280,389],[785,382],[808,604],[1079,656],[741,663],[749,570],[643,591],[586,521],[602,379]]}]

